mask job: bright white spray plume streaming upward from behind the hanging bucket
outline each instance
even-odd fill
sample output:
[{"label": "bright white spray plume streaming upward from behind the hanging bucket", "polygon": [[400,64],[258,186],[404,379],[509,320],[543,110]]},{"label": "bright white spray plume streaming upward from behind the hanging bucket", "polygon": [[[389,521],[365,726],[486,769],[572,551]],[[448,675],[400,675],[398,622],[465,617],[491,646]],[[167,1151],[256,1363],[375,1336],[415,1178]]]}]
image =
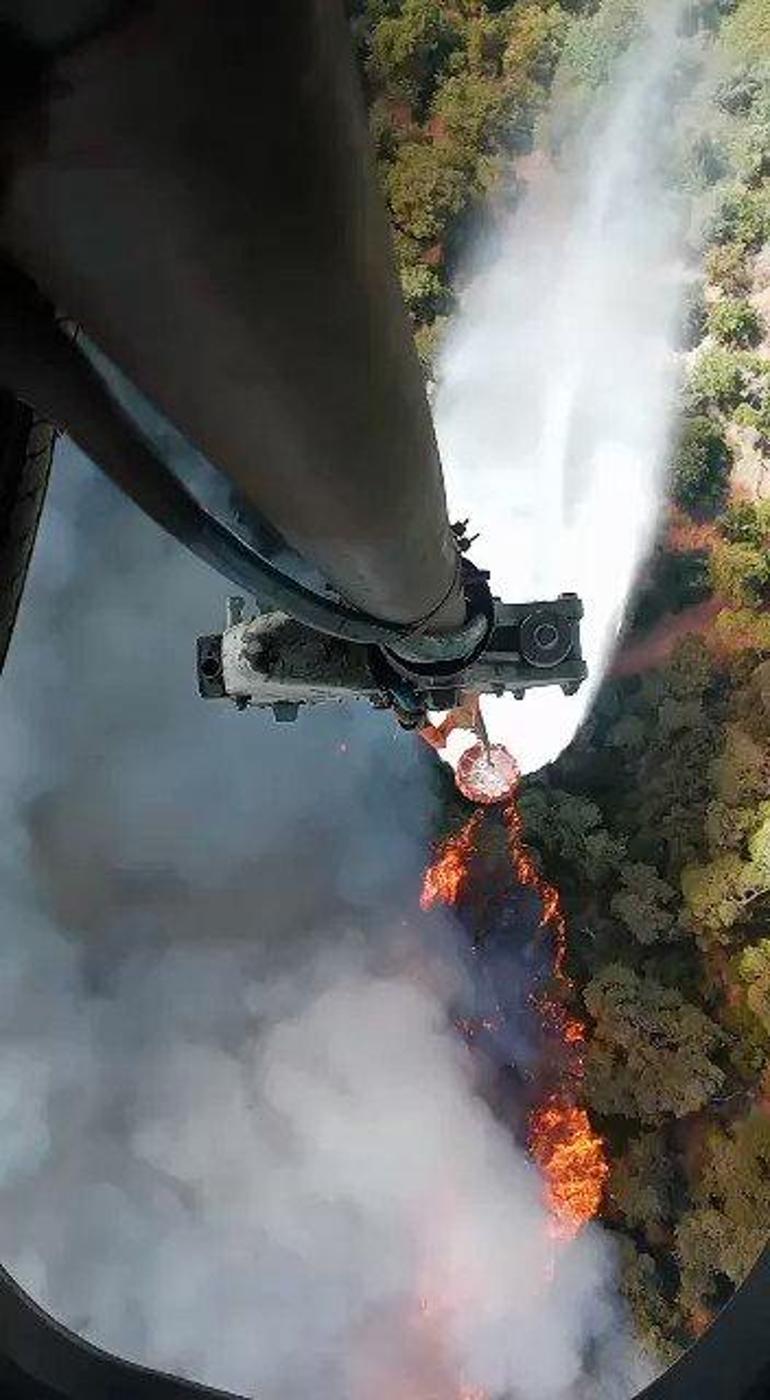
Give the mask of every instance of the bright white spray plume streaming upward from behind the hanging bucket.
[{"label": "bright white spray plume streaming upward from behind the hanging bucket", "polygon": [[[525,771],[557,757],[602,679],[665,479],[678,316],[678,218],[661,155],[679,6],[620,64],[566,168],[535,181],[475,277],[438,371],[452,518],[510,602],[578,592],[589,685],[482,703]],[[449,738],[456,762],[473,742]]]}]

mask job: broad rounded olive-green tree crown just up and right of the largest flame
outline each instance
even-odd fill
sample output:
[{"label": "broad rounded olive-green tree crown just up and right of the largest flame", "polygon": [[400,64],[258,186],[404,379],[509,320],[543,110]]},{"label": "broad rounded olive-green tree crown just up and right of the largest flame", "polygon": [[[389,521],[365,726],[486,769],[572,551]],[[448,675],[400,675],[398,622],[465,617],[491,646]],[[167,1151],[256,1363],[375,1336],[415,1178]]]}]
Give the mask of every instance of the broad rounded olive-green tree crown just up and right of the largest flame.
[{"label": "broad rounded olive-green tree crown just up and right of the largest flame", "polygon": [[694,1113],[722,1088],[713,1056],[724,1035],[673,988],[612,963],[584,997],[595,1021],[587,1089],[599,1113],[659,1123]]}]

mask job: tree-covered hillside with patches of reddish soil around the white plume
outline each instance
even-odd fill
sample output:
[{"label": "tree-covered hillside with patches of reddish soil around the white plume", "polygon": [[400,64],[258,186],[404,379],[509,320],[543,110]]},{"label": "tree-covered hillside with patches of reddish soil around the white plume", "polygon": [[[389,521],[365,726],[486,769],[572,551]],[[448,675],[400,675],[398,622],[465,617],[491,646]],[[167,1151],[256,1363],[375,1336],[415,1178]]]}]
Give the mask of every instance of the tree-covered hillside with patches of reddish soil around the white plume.
[{"label": "tree-covered hillside with patches of reddish soil around the white plume", "polygon": [[[430,367],[479,221],[559,172],[644,6],[351,10]],[[588,725],[522,797],[568,913],[602,1219],[666,1359],[770,1232],[770,6],[701,0],[685,22],[706,63],[671,176],[690,234],[668,518]]]}]

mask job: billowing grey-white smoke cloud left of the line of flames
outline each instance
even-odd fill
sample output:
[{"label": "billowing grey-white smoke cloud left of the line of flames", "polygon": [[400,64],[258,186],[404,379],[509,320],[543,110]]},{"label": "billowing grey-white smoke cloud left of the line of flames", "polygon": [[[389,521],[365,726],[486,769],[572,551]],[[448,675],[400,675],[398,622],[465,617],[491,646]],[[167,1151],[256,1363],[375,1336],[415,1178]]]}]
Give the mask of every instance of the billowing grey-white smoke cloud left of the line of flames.
[{"label": "billowing grey-white smoke cloud left of the line of flames", "polygon": [[84,1337],[265,1400],[564,1400],[588,1350],[627,1394],[610,1250],[550,1277],[449,1025],[430,756],[360,710],[200,701],[220,588],[64,445],[0,690],[3,1263]]}]

